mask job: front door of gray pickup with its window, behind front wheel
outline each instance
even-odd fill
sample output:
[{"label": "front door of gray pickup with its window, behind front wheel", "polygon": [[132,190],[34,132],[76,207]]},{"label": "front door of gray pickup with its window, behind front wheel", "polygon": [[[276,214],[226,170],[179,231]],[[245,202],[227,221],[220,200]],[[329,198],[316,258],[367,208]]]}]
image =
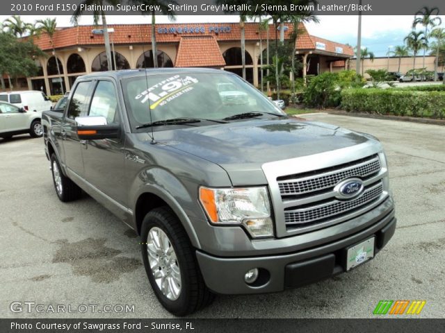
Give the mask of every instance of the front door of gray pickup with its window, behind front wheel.
[{"label": "front door of gray pickup with its window, behind front wheel", "polygon": [[113,200],[127,207],[127,182],[124,171],[124,131],[117,89],[112,80],[99,80],[88,116],[103,116],[108,124],[121,126],[118,139],[86,140],[82,146],[85,179]]}]

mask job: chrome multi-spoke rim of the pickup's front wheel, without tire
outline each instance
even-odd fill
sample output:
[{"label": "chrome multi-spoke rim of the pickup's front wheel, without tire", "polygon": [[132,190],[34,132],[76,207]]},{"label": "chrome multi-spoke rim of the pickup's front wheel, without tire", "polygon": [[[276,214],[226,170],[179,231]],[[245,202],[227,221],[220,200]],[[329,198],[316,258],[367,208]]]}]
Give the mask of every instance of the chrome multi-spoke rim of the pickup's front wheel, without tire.
[{"label": "chrome multi-spoke rim of the pickup's front wheel, without tire", "polygon": [[167,234],[153,227],[147,235],[149,266],[159,290],[169,300],[177,300],[181,293],[181,271]]}]

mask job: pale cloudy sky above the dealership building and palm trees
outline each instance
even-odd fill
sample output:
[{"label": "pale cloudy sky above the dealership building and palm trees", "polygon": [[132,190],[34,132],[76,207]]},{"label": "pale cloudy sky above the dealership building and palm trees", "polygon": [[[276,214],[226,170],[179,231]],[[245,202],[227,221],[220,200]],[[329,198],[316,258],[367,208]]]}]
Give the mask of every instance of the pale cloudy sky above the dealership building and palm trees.
[{"label": "pale cloudy sky above the dealership building and palm trees", "polygon": [[[0,20],[7,19],[1,16]],[[33,23],[36,19],[45,19],[42,16],[22,16],[25,22]],[[326,38],[334,42],[348,43],[352,46],[357,44],[357,22],[358,17],[353,15],[322,15],[318,17],[320,23],[306,24],[311,35]],[[402,15],[363,15],[362,16],[362,47],[367,47],[376,57],[387,56],[388,49],[397,45],[403,45],[403,38],[412,30],[413,16]],[[445,27],[445,16],[442,18],[442,27]],[[70,16],[60,15],[56,17],[57,25],[60,27],[71,26]],[[176,23],[215,23],[215,22],[238,22],[236,15],[178,15]],[[132,24],[150,23],[151,18],[140,16],[108,15],[108,24]],[[168,23],[165,16],[156,16],[156,23]],[[81,17],[79,24],[92,24],[92,16]]]}]

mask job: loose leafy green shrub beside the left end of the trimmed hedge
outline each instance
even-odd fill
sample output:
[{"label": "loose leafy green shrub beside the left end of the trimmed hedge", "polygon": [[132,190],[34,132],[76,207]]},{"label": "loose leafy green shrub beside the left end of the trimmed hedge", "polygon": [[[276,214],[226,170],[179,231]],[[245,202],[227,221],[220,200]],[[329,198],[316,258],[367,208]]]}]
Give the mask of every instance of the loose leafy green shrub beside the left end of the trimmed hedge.
[{"label": "loose leafy green shrub beside the left end of the trimmed hedge", "polygon": [[304,102],[316,108],[337,107],[341,103],[341,90],[362,87],[364,80],[355,71],[325,72],[311,78],[305,89]]}]

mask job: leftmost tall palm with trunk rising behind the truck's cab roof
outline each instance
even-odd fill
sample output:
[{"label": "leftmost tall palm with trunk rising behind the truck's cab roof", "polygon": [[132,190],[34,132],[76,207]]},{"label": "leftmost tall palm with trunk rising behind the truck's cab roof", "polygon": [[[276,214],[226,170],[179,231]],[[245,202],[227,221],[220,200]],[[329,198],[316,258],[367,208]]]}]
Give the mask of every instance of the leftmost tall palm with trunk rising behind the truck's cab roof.
[{"label": "leftmost tall palm with trunk rising behind the truck's cab roof", "polygon": [[[104,8],[104,4],[108,3],[109,5],[117,6],[120,3],[120,0],[83,0],[77,9],[74,11],[74,14],[71,17],[71,22],[74,25],[79,24],[79,19],[86,12],[87,6],[97,6],[97,8]],[[85,5],[85,6],[81,6]],[[106,63],[108,65],[108,71],[113,69],[112,61],[111,61],[111,49],[110,49],[110,35],[108,35],[108,26],[106,24],[106,16],[104,10],[95,10],[93,12],[93,18],[95,25],[99,24],[99,17],[102,21],[102,28],[104,28],[104,41],[105,41],[105,53],[106,53]]]}]

